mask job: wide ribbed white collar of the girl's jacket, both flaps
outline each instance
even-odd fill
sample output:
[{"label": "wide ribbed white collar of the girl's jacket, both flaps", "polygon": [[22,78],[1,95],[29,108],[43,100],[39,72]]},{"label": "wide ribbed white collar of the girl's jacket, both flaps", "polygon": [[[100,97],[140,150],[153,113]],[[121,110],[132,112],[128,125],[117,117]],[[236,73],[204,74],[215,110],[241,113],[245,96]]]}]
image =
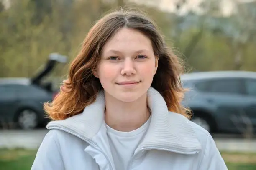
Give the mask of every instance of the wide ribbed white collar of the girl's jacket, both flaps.
[{"label": "wide ribbed white collar of the girl's jacket, both flaps", "polygon": [[[145,138],[136,151],[159,148],[176,153],[197,153],[201,145],[189,120],[177,113],[169,112],[164,98],[153,87],[148,90],[148,105],[151,122]],[[94,103],[84,111],[65,120],[49,122],[47,129],[60,129],[82,140],[91,141],[104,123],[105,97],[101,91]]]}]

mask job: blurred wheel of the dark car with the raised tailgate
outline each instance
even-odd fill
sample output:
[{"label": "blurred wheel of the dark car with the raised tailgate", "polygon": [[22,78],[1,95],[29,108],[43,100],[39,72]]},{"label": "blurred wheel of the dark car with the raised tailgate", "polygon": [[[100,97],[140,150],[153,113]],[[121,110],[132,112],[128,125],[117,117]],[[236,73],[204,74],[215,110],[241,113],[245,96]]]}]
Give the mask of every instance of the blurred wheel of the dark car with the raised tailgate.
[{"label": "blurred wheel of the dark car with the raised tailgate", "polygon": [[22,129],[34,129],[38,126],[38,115],[34,110],[24,109],[19,112],[17,121]]}]

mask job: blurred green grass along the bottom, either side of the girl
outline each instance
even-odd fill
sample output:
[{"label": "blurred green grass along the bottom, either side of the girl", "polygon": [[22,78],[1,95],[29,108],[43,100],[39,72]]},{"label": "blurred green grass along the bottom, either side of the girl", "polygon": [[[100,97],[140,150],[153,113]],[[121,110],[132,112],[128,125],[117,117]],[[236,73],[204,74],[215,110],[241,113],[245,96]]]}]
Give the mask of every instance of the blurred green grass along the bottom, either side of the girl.
[{"label": "blurred green grass along the bottom, either side of the girl", "polygon": [[[228,170],[256,170],[256,153],[222,152]],[[35,150],[0,149],[0,170],[30,170]]]}]

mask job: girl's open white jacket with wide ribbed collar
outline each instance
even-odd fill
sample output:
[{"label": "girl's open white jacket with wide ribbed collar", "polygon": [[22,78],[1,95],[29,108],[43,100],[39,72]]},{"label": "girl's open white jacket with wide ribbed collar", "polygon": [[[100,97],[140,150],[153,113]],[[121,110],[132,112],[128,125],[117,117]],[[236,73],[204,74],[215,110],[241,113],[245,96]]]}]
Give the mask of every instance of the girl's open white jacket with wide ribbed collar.
[{"label": "girl's open white jacket with wide ribbed collar", "polygon": [[[211,135],[169,112],[164,98],[148,90],[151,122],[128,170],[227,170]],[[49,122],[31,170],[116,170],[104,122],[104,93],[83,113]]]}]

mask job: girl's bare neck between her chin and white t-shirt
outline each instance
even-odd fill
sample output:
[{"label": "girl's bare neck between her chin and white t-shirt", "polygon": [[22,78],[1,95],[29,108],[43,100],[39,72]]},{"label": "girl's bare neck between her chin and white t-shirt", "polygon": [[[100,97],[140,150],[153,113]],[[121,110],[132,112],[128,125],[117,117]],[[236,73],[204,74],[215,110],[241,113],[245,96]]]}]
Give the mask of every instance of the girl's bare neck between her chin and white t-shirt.
[{"label": "girl's bare neck between her chin and white t-shirt", "polygon": [[134,102],[122,102],[105,94],[105,122],[111,128],[129,132],[141,127],[149,118],[147,94]]}]

